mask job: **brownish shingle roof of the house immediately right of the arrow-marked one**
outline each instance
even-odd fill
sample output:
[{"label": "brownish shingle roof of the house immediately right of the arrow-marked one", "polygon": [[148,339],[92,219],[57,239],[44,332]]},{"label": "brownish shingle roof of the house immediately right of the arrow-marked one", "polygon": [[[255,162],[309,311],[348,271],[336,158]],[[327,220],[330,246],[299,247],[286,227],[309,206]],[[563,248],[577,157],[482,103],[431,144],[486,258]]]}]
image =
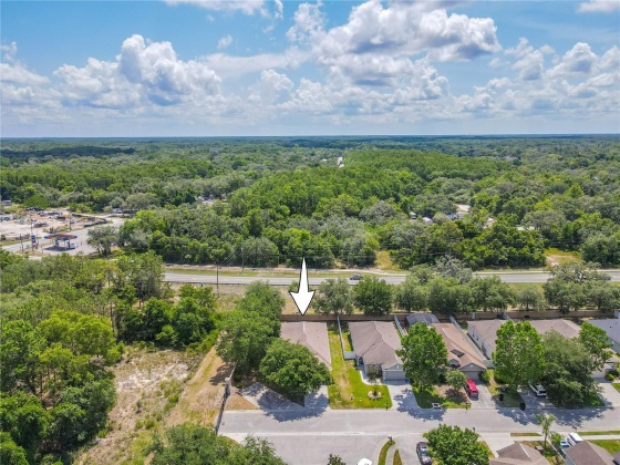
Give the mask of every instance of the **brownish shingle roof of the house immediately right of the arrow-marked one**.
[{"label": "brownish shingle roof of the house immediately right of the arrow-marked one", "polygon": [[402,349],[402,345],[394,323],[390,321],[351,322],[349,331],[353,350],[358,356],[363,356],[365,364],[392,366],[403,363],[395,352]]}]

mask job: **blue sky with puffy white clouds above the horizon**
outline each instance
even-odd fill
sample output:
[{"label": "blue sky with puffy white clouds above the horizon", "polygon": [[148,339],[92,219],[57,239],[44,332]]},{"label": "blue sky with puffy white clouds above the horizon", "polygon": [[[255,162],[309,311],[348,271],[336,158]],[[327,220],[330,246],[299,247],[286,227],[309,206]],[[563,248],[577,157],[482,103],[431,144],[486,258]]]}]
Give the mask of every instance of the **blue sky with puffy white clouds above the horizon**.
[{"label": "blue sky with puffy white clouds above the horizon", "polygon": [[3,137],[620,132],[620,0],[0,8]]}]

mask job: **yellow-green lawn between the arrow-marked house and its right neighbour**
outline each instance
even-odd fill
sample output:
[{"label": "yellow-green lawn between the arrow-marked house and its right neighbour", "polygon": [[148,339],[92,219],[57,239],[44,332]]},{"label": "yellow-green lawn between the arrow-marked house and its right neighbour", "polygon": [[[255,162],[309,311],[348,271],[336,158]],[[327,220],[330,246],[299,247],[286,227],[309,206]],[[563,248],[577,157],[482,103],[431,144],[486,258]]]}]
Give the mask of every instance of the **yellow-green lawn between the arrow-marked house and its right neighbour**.
[{"label": "yellow-green lawn between the arrow-marked house and its right neighbour", "polygon": [[342,358],[338,331],[330,330],[328,334],[333,378],[333,384],[328,386],[330,406],[332,409],[390,409],[392,399],[388,386],[378,385],[376,390],[381,393],[381,399],[370,399],[368,394],[373,386],[362,381],[353,360]]}]

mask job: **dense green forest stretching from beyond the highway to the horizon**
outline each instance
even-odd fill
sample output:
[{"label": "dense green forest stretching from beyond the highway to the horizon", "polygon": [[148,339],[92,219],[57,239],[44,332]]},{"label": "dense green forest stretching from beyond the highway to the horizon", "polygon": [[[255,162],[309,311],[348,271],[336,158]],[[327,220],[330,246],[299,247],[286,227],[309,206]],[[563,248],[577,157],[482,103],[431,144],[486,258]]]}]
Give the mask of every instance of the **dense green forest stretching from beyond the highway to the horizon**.
[{"label": "dense green forest stretching from beyond the highway to the horizon", "polygon": [[2,198],[137,211],[116,241],[167,262],[620,265],[618,136],[11,140],[1,163]]}]

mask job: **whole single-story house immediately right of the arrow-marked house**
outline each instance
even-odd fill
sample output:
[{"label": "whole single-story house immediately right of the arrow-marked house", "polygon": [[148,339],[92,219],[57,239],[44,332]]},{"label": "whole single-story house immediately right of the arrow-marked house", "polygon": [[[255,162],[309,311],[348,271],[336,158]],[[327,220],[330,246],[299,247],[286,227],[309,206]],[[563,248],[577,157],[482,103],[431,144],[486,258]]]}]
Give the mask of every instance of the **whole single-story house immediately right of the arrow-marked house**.
[{"label": "whole single-story house immediately right of the arrow-marked house", "polygon": [[390,321],[350,322],[349,331],[353,343],[353,352],[368,376],[369,369],[379,370],[383,381],[406,380],[403,361],[396,355],[402,349],[401,338],[394,323]]}]

